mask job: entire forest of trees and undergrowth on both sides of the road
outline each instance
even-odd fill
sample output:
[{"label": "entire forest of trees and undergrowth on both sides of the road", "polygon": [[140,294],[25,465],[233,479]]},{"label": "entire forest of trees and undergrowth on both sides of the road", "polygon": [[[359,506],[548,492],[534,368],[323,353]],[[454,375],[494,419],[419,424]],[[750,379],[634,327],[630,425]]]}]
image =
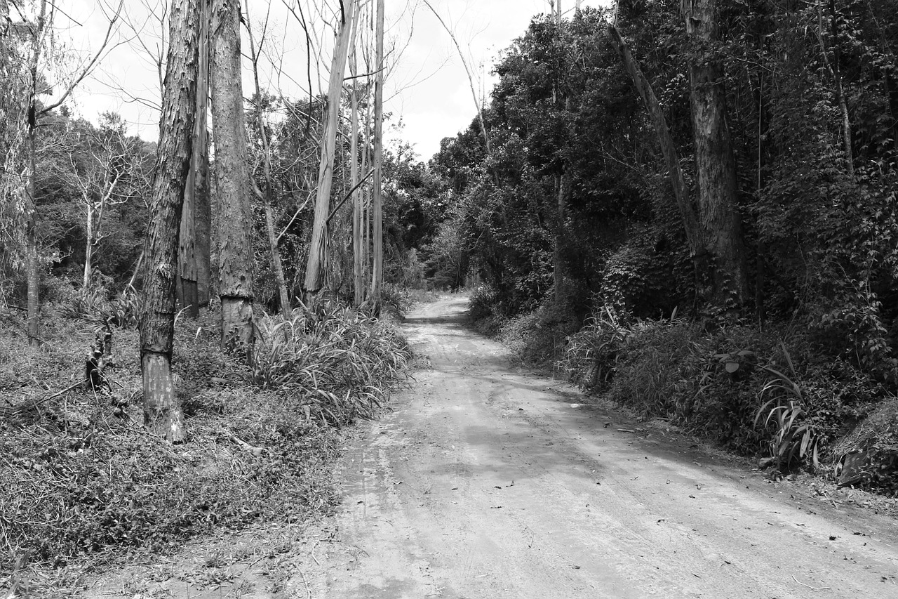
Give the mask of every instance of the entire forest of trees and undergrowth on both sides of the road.
[{"label": "entire forest of trees and undergrowth on both sides of the road", "polygon": [[55,4],[0,0],[3,584],[332,513],[397,323],[459,290],[585,393],[898,494],[895,0],[552,3],[426,161],[383,143],[383,0],[284,3],[331,20],[302,97],[261,4],[168,3],[146,141],[69,109]]}]

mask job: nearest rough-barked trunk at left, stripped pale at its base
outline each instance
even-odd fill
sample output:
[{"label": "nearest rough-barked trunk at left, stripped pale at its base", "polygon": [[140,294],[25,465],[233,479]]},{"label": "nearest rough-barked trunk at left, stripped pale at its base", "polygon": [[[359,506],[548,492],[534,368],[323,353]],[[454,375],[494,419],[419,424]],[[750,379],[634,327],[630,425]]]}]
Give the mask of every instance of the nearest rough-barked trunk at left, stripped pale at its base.
[{"label": "nearest rough-barked trunk at left, stripped pale at its base", "polygon": [[193,147],[198,31],[198,0],[172,2],[140,315],[144,421],[171,442],[187,436],[172,379],[172,338],[178,234]]}]

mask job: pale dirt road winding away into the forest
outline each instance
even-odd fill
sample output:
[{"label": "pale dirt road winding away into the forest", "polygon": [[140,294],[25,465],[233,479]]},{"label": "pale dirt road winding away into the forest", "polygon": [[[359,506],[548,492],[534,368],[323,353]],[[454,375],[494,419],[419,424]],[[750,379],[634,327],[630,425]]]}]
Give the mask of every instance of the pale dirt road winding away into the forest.
[{"label": "pale dirt road winding away into the forest", "polygon": [[432,366],[350,443],[338,536],[295,596],[898,599],[894,520],[636,430],[515,368],[465,308],[407,319]]}]

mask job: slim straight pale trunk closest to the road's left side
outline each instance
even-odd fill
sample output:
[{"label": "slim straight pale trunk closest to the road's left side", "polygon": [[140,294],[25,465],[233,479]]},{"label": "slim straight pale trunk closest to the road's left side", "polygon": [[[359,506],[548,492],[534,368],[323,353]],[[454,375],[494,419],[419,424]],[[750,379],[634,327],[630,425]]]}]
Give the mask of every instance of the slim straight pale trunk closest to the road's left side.
[{"label": "slim straight pale trunk closest to the road's left side", "polygon": [[374,313],[381,308],[383,284],[383,0],[377,0],[377,27],[374,76],[374,268],[371,273],[371,301]]}]

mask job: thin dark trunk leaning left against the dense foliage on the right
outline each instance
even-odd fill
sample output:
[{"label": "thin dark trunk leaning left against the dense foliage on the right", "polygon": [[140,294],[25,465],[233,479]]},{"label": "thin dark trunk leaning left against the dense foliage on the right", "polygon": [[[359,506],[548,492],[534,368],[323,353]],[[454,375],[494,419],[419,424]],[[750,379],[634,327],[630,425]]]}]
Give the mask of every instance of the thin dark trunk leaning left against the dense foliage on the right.
[{"label": "thin dark trunk leaning left against the dense foliage on the right", "polygon": [[680,165],[680,156],[678,156],[674,139],[671,137],[670,128],[667,126],[665,113],[661,109],[661,104],[652,86],[649,85],[646,77],[642,74],[642,69],[633,55],[629,51],[627,42],[621,37],[621,33],[613,24],[608,26],[608,33],[612,37],[614,47],[621,56],[624,67],[627,69],[633,85],[642,102],[646,104],[649,119],[655,129],[655,135],[658,140],[658,146],[661,148],[661,154],[665,157],[665,165],[667,165],[667,176],[674,189],[674,198],[676,199],[677,208],[680,210],[683,229],[686,232],[686,241],[689,244],[690,252],[693,259],[704,255],[706,250],[702,241],[701,228],[699,218],[693,208],[689,190],[686,187],[686,181],[683,178],[682,166]]}]

